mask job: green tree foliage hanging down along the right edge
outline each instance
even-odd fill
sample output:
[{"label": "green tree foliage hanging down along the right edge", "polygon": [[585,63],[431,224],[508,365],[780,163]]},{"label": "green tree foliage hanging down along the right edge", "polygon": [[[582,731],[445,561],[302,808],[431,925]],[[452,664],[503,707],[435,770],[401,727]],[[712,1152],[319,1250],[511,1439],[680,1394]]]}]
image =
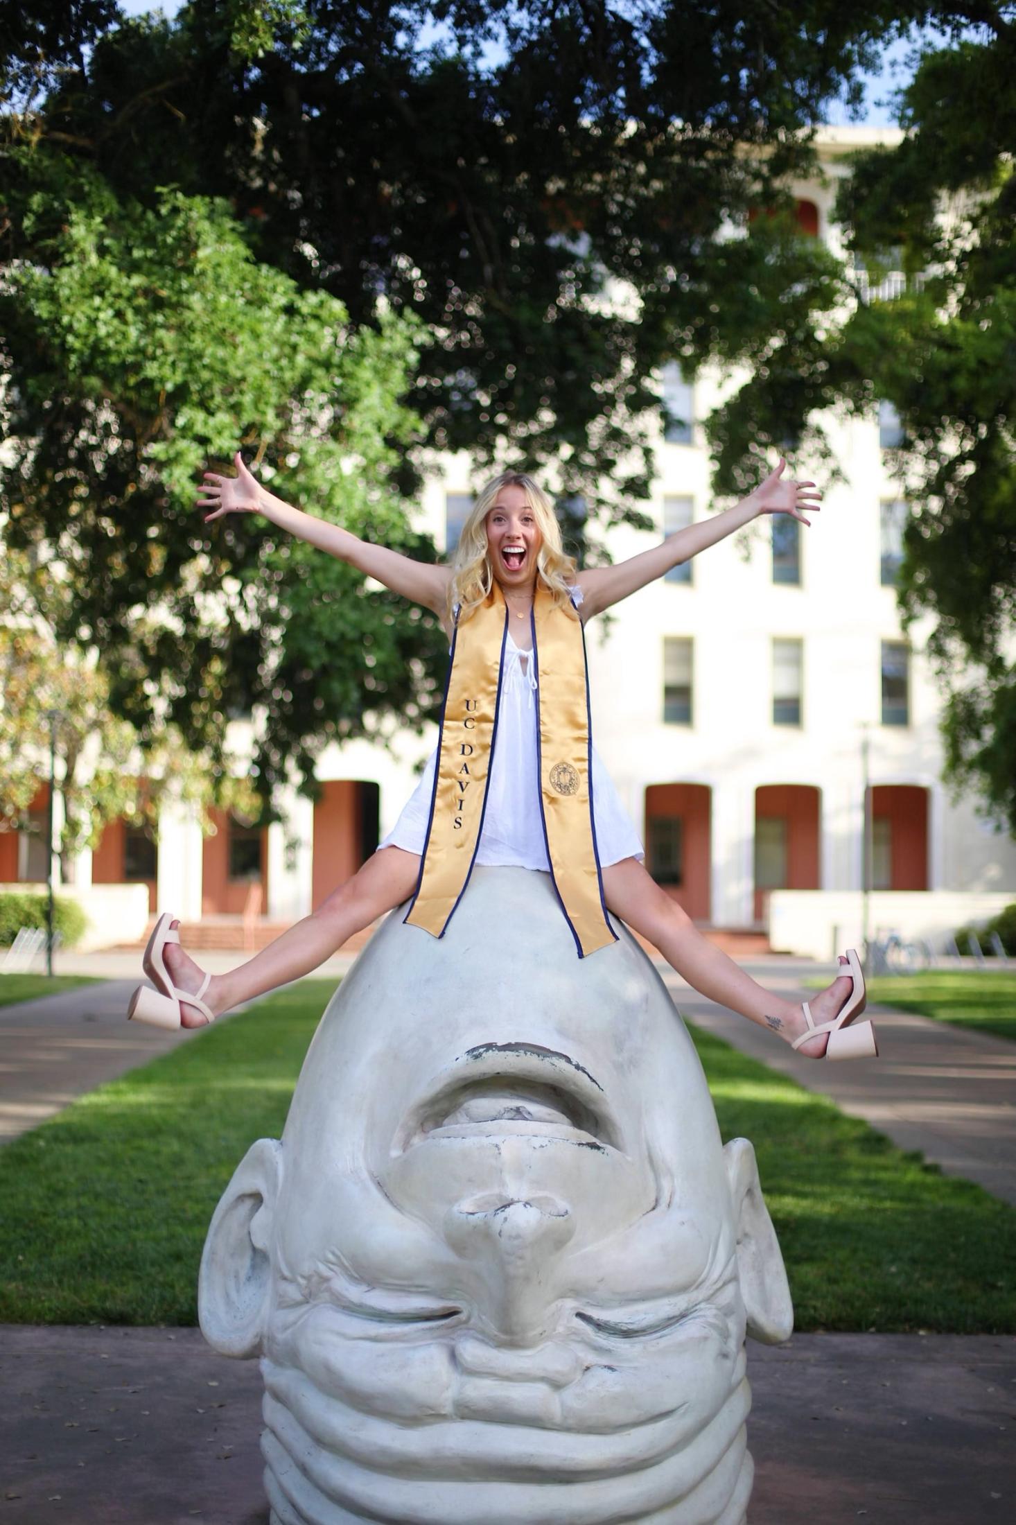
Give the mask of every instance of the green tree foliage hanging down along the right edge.
[{"label": "green tree foliage hanging down along the right edge", "polygon": [[947,775],[1016,836],[1016,6],[985,20],[924,55],[906,139],[862,156],[841,195],[866,262],[911,274],[857,308],[844,346],[903,425],[900,599],[934,616]]}]

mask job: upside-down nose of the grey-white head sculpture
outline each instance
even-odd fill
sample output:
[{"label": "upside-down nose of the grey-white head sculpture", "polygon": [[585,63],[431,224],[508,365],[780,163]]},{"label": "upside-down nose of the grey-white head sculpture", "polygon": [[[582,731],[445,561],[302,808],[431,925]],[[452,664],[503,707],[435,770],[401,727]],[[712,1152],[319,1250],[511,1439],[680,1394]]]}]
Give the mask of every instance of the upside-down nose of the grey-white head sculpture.
[{"label": "upside-down nose of the grey-white head sculpture", "polygon": [[548,1269],[575,1234],[567,1203],[545,1194],[470,1197],[447,1214],[444,1234],[458,1255],[476,1263],[494,1328],[511,1344],[540,1340]]}]

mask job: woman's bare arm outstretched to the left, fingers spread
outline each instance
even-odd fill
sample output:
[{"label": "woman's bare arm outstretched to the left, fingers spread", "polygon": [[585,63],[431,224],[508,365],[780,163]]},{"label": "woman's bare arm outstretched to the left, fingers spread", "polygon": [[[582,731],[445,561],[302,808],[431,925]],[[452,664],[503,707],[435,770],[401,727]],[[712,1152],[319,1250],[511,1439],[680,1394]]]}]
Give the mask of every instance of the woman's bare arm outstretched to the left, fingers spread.
[{"label": "woman's bare arm outstretched to the left, fingers spread", "polygon": [[217,471],[206,471],[201,486],[203,497],[198,497],[198,508],[211,508],[204,515],[204,523],[221,518],[224,514],[262,514],[279,529],[288,531],[297,540],[305,540],[308,546],[317,546],[340,561],[348,561],[358,572],[377,578],[384,587],[413,604],[432,608],[441,618],[447,615],[449,567],[433,566],[429,561],[413,561],[400,551],[389,551],[387,546],[372,546],[360,540],[349,529],[340,525],[330,525],[326,518],[316,518],[305,514],[281,497],[275,497],[258,482],[243,462],[240,451],[233,456],[236,467],[235,477],[220,476]]}]

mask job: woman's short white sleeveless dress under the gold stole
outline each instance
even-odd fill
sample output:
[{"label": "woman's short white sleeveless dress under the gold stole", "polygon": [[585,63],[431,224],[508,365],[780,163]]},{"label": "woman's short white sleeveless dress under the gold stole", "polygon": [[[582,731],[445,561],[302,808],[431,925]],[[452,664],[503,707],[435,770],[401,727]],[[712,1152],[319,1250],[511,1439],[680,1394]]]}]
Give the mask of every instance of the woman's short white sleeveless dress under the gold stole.
[{"label": "woman's short white sleeveless dress under the gold stole", "polygon": [[[575,607],[581,589],[575,589]],[[505,668],[497,700],[497,744],[487,782],[487,808],[476,862],[485,866],[534,868],[549,874],[540,813],[540,775],[537,770],[537,680],[532,659],[511,639],[505,640]],[[433,795],[438,749],[430,753],[421,779],[381,848],[403,848],[423,856]],[[593,820],[600,866],[621,859],[642,859],[642,843],[632,825],[610,776],[592,749]]]}]

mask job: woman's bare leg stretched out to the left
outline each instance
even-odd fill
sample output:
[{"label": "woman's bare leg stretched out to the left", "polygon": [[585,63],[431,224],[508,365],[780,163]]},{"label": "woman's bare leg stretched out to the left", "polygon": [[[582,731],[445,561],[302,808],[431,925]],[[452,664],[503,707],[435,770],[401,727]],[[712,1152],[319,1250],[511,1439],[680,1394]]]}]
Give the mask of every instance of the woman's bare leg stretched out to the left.
[{"label": "woman's bare leg stretched out to the left", "polygon": [[[404,852],[401,848],[380,849],[310,917],[288,927],[246,964],[227,974],[214,974],[204,991],[204,1000],[218,1016],[220,1011],[229,1011],[243,1000],[262,996],[265,990],[275,990],[291,979],[310,974],[354,932],[362,932],[386,910],[409,900],[418,875],[420,857],[415,852]],[[174,921],[174,926],[177,924]],[[165,959],[178,990],[198,990],[203,971],[180,944],[169,942]],[[204,1026],[206,1019],[197,1006],[182,1003],[180,1016],[185,1028]]]}]

